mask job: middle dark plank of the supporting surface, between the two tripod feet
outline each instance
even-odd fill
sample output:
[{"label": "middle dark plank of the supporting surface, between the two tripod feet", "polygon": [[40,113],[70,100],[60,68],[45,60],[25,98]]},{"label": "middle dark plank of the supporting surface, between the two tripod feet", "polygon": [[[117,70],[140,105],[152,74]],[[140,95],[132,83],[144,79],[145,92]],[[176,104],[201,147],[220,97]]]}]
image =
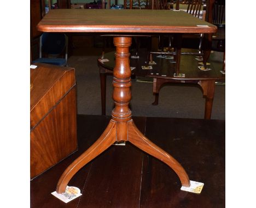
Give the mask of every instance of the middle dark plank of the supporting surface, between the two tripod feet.
[{"label": "middle dark plank of the supporting surface, between the two tripod feet", "polygon": [[[144,132],[144,118],[135,118]],[[112,145],[93,162],[78,207],[139,207],[143,152],[126,143]]]}]

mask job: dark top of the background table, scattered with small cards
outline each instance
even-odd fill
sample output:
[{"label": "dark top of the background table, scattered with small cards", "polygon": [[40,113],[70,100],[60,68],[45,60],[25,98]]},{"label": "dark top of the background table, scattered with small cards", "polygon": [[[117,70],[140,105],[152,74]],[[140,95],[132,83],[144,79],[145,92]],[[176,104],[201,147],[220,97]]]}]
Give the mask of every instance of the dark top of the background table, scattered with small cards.
[{"label": "dark top of the background table, scattered with small cards", "polygon": [[[200,66],[198,63],[200,61],[196,60],[193,55],[184,55],[181,56],[181,66],[179,69],[179,73],[185,74],[185,77],[174,77],[173,74],[176,73],[176,63],[172,63],[172,59],[158,58],[160,54],[152,54],[152,59],[156,64],[152,65],[152,70],[142,69],[141,66],[147,65],[145,61],[147,60],[147,50],[145,48],[141,48],[139,51],[138,59],[130,58],[130,66],[135,67],[132,70],[132,75],[144,76],[144,77],[153,77],[153,78],[165,78],[165,79],[177,79],[177,80],[219,80],[225,78],[225,75],[219,72],[218,69],[215,69],[213,65],[211,66],[212,70],[202,71],[198,68]],[[115,52],[108,52],[104,54],[104,58],[107,58],[109,62],[100,62],[98,60],[98,66],[102,66],[102,68],[106,68],[111,72],[114,69],[115,64]],[[135,55],[135,51],[131,52],[131,55]],[[211,63],[211,60],[210,60]],[[153,75],[152,75],[153,73]],[[166,76],[163,76],[166,75]]]}]

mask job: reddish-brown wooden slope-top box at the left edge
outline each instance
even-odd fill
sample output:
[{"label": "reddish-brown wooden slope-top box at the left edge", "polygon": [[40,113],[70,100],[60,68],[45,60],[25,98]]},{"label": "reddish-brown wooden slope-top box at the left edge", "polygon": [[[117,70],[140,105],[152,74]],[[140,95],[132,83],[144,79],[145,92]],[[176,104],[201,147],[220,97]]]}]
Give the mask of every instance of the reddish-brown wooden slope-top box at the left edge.
[{"label": "reddish-brown wooden slope-top box at the left edge", "polygon": [[34,64],[30,69],[31,179],[77,150],[73,68]]}]

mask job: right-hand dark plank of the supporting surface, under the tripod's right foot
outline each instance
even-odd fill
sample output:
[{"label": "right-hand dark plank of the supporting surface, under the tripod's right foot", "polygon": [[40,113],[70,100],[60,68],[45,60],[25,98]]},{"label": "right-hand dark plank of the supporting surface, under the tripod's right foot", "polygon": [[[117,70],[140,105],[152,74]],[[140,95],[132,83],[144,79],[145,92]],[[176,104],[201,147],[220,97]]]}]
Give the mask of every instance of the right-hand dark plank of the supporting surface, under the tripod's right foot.
[{"label": "right-hand dark plank of the supporting surface, under the tripod's right foot", "polygon": [[166,164],[144,155],[140,207],[225,207],[224,121],[148,118],[146,136],[205,186],[201,194],[181,191]]}]

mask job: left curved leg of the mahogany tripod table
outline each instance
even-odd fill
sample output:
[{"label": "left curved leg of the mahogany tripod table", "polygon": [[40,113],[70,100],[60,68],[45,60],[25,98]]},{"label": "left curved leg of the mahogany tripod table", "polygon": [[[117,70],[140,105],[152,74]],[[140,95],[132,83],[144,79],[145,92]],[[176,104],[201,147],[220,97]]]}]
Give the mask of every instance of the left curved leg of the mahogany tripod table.
[{"label": "left curved leg of the mahogany tripod table", "polygon": [[116,141],[116,123],[110,120],[106,130],[102,133],[100,138],[90,146],[82,155],[80,155],[74,162],[72,162],[65,172],[61,175],[57,183],[56,192],[63,193],[66,190],[69,180],[75,173],[78,172],[85,164],[89,163],[96,156],[100,155],[104,150],[108,149]]}]

